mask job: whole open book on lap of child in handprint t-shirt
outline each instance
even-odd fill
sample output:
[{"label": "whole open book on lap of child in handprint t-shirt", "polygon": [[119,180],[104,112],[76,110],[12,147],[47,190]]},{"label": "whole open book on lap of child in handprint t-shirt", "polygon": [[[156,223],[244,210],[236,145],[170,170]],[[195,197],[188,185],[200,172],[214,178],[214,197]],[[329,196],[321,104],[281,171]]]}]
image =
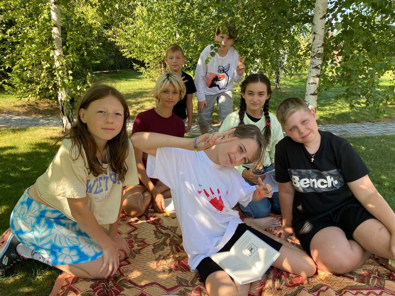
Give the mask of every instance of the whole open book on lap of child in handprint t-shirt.
[{"label": "whole open book on lap of child in handprint t-shirt", "polygon": [[247,230],[229,252],[210,255],[239,285],[259,281],[280,255],[251,231]]}]

